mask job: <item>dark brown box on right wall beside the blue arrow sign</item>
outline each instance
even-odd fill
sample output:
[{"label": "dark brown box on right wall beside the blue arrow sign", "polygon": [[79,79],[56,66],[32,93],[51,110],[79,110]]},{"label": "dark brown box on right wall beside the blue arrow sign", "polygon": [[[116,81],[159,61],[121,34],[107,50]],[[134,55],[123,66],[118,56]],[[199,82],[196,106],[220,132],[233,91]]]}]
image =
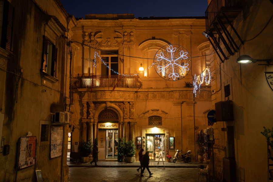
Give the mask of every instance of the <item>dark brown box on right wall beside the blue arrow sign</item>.
[{"label": "dark brown box on right wall beside the blue arrow sign", "polygon": [[216,121],[233,121],[232,101],[220,101],[215,103]]}]

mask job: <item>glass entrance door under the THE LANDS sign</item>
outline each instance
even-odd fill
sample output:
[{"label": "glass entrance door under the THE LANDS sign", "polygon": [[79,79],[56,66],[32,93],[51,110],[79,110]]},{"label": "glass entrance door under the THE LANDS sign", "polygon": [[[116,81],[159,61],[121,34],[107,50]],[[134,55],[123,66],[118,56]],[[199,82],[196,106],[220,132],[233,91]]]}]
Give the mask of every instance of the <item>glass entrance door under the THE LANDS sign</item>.
[{"label": "glass entrance door under the THE LANDS sign", "polygon": [[106,130],[106,159],[117,158],[118,130]]}]

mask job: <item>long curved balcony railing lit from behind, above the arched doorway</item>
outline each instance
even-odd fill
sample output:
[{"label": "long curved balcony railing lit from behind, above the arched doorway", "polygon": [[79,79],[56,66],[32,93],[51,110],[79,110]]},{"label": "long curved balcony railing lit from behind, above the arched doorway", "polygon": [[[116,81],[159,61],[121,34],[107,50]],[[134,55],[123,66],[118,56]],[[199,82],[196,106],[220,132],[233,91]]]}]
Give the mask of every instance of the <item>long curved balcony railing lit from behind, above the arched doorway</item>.
[{"label": "long curved balcony railing lit from behind, above the arched doorway", "polygon": [[119,87],[136,89],[142,87],[142,82],[138,76],[93,75],[74,77],[72,78],[71,86],[73,89],[91,87]]}]

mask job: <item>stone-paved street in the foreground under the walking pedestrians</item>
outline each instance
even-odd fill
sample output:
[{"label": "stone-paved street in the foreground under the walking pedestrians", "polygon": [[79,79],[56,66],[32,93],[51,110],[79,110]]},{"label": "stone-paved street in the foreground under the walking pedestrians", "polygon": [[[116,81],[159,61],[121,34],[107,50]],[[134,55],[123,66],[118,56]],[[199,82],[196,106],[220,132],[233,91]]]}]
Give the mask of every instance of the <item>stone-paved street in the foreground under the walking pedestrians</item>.
[{"label": "stone-paved street in the foreground under the walking pedestrians", "polygon": [[[151,167],[150,171],[153,175],[149,176],[148,171],[145,170],[144,177],[140,177],[140,172],[136,169],[134,167],[69,167],[69,182],[197,181],[197,168]],[[205,178],[202,181],[206,181]]]}]

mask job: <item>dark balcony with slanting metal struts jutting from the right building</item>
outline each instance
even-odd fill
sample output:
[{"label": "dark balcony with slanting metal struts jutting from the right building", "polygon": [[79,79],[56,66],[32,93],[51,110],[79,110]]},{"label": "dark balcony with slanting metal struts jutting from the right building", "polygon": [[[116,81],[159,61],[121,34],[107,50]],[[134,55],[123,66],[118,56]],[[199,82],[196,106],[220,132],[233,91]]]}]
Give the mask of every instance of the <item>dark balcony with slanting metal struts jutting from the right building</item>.
[{"label": "dark balcony with slanting metal struts jutting from the right building", "polygon": [[[232,32],[234,32],[238,40],[244,44],[240,35],[232,25],[233,20],[242,9],[240,0],[212,0],[205,12],[206,32],[204,35],[210,41],[221,62],[224,62],[225,59],[228,59],[229,56],[234,55],[234,53],[239,50],[240,45],[236,44],[232,38]],[[227,30],[229,26],[231,27],[231,32]],[[221,48],[220,42],[223,43],[223,48]],[[224,52],[223,49],[226,49],[226,51]]]}]

